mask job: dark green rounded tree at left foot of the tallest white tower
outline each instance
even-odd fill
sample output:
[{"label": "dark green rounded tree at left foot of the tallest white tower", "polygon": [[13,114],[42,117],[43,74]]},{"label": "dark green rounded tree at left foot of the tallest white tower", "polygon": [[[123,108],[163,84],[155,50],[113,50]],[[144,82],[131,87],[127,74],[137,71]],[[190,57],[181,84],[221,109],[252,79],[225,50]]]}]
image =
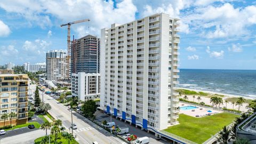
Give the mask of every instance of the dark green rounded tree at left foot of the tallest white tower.
[{"label": "dark green rounded tree at left foot of the tallest white tower", "polygon": [[97,106],[94,100],[87,100],[82,105],[82,113],[85,117],[93,117],[93,114],[97,110]]}]

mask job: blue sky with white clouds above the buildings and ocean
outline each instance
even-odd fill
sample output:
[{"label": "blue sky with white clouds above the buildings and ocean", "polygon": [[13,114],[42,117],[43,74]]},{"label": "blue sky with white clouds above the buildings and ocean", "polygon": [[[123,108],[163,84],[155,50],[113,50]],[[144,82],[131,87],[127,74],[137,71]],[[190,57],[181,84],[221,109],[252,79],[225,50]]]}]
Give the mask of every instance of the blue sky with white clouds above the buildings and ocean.
[{"label": "blue sky with white clouds above the buildings and ocean", "polygon": [[112,23],[154,13],[180,19],[179,68],[256,69],[256,1],[243,0],[1,0],[0,65],[45,61],[49,50],[67,49],[71,35],[100,36]]}]

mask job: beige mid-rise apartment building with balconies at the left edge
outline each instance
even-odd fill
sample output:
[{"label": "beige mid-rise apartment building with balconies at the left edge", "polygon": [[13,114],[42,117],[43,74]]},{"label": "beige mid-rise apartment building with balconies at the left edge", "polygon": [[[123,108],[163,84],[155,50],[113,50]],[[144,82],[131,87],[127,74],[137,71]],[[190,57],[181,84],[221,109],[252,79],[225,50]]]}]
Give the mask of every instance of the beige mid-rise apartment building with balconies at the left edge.
[{"label": "beige mid-rise apartment building with balconies at the left edge", "polygon": [[[4,126],[3,114],[15,113],[12,125],[28,122],[28,75],[0,75],[0,127]],[[5,119],[5,125],[10,125],[10,117]]]}]

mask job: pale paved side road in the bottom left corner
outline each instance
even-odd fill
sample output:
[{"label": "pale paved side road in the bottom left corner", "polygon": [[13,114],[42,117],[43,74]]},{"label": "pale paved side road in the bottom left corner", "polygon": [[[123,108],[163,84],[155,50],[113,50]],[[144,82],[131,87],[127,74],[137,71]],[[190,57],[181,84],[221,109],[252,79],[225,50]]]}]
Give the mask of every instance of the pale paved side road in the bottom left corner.
[{"label": "pale paved side road in the bottom left corner", "polygon": [[26,132],[18,135],[13,135],[11,137],[6,137],[0,139],[1,144],[31,144],[34,143],[34,140],[43,137],[45,135],[44,130],[35,130],[31,132]]}]

